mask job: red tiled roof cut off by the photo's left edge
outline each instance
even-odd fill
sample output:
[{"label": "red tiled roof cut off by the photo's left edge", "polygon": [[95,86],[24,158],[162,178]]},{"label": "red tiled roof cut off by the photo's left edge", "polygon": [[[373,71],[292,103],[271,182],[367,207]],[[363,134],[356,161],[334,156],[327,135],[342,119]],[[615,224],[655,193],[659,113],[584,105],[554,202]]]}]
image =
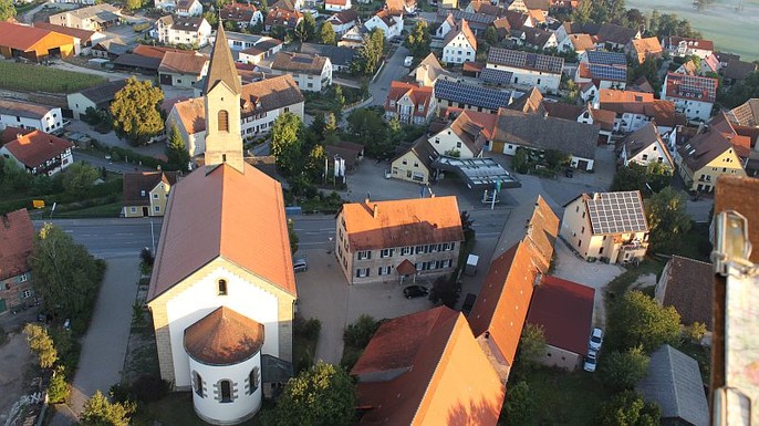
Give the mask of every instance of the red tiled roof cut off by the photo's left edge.
[{"label": "red tiled roof cut off by the photo's left edge", "polygon": [[27,209],[0,216],[0,281],[29,271],[34,227]]}]

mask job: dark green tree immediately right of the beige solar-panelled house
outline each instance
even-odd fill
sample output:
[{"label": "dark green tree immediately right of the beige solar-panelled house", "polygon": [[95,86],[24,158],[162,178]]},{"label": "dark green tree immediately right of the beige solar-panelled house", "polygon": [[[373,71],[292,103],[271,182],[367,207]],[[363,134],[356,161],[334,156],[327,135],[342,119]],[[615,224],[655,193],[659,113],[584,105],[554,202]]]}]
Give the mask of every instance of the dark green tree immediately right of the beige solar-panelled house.
[{"label": "dark green tree immediately right of the beige solar-panelled house", "polygon": [[685,210],[685,195],[668,186],[646,204],[648,242],[652,252],[672,254],[690,230],[690,217]]}]

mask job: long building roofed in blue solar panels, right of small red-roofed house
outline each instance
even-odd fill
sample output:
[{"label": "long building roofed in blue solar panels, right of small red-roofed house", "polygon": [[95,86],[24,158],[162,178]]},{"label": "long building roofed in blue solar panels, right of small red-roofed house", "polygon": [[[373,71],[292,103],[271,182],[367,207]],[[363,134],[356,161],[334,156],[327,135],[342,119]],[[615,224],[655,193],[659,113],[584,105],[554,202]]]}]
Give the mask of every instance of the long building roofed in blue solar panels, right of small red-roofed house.
[{"label": "long building roofed in blue solar panels, right of small red-roofed house", "polygon": [[435,82],[435,98],[440,110],[456,107],[495,114],[511,103],[512,93],[448,80]]}]

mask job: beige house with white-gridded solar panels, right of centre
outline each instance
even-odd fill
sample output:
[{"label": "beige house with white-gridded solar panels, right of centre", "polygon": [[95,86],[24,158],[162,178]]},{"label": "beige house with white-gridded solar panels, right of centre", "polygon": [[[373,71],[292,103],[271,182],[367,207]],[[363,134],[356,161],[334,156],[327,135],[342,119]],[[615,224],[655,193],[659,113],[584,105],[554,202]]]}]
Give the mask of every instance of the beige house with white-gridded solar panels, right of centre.
[{"label": "beige house with white-gridded solar panels, right of centre", "polygon": [[627,263],[648,249],[641,191],[582,194],[564,206],[561,238],[588,261]]}]

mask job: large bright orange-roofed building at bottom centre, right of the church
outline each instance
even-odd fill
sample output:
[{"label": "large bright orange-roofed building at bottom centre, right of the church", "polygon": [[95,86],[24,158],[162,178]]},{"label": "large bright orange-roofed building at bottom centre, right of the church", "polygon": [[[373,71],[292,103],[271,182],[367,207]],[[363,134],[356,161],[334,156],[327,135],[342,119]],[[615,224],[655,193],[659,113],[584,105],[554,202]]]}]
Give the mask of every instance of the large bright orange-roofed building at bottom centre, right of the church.
[{"label": "large bright orange-roofed building at bottom centre, right of the church", "polygon": [[467,320],[446,306],[382,324],[351,375],[358,425],[436,426],[460,416],[496,426],[505,396]]}]

